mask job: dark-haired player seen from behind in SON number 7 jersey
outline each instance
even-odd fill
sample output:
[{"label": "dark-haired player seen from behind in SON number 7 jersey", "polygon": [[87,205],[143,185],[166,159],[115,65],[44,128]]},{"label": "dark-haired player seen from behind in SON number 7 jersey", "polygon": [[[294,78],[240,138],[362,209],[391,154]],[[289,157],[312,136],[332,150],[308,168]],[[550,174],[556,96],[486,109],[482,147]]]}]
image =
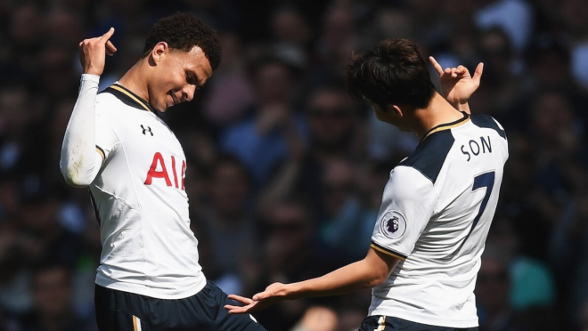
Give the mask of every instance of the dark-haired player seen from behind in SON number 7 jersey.
[{"label": "dark-haired player seen from behind in SON number 7 jersey", "polygon": [[[263,309],[280,300],[339,295],[372,288],[362,331],[477,330],[474,297],[480,255],[498,201],[508,157],[501,125],[470,115],[468,99],[479,85],[462,66],[441,69],[442,93],[415,44],[381,41],[353,56],[350,93],[384,122],[416,133],[421,142],[390,173],[372,246],[365,258],[323,277],[274,283],[231,313]],[[463,111],[458,111],[457,109]]]}]

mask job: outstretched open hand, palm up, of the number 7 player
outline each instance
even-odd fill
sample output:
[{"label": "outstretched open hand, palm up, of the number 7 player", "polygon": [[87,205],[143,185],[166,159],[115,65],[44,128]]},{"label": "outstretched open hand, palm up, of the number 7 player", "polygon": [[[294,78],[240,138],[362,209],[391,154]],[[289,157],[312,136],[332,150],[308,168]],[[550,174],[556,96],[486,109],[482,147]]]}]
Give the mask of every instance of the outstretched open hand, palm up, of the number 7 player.
[{"label": "outstretched open hand, palm up, of the number 7 player", "polygon": [[266,287],[264,292],[253,295],[252,299],[241,295],[229,295],[229,299],[243,303],[244,306],[226,304],[225,310],[229,311],[230,314],[246,314],[253,311],[263,311],[272,304],[284,300],[285,294],[286,286],[282,283],[274,283]]}]

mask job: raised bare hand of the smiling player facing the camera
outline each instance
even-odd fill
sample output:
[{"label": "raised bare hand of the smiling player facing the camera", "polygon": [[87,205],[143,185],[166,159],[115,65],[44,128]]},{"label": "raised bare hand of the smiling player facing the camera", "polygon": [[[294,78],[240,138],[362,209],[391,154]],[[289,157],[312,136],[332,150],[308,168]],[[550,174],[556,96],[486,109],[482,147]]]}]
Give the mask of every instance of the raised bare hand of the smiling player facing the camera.
[{"label": "raised bare hand of the smiling player facing the camera", "polygon": [[104,71],[104,61],[106,55],[110,56],[117,52],[117,48],[110,42],[110,37],[114,34],[114,28],[110,28],[102,36],[85,39],[79,43],[79,61],[82,62],[82,68],[85,74],[101,76]]}]

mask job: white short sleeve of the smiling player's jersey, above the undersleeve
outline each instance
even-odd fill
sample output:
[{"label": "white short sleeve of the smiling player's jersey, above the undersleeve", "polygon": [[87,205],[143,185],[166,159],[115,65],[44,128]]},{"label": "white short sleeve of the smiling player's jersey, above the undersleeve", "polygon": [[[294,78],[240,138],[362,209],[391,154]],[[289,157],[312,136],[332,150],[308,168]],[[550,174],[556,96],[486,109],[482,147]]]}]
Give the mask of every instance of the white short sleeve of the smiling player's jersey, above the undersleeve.
[{"label": "white short sleeve of the smiling player's jersey, above the undersleeve", "polygon": [[104,160],[111,156],[119,142],[116,133],[117,118],[113,118],[107,108],[108,102],[101,100],[99,95],[96,101],[96,149],[103,154]]}]

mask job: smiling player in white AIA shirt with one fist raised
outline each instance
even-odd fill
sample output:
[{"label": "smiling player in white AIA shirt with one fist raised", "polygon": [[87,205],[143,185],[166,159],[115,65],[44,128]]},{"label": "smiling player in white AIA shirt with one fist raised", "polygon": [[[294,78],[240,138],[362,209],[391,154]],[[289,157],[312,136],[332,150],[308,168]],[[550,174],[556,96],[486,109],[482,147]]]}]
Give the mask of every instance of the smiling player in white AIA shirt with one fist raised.
[{"label": "smiling player in white AIA shirt with one fist raised", "polygon": [[101,331],[265,330],[229,315],[207,282],[190,230],[186,160],[157,111],[191,101],[220,61],[216,31],[189,13],[156,22],[135,65],[102,93],[105,35],[80,45],[84,69],[61,149],[66,182],[89,186],[102,256],[95,287]]}]

